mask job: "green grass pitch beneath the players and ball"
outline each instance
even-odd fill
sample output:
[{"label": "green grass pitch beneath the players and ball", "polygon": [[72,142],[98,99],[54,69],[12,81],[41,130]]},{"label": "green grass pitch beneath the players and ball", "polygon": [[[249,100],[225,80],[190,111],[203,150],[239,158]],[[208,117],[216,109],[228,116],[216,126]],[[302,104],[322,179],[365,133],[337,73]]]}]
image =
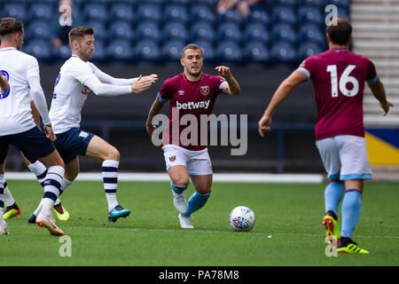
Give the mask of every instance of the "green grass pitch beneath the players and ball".
[{"label": "green grass pitch beneath the players and ball", "polygon": [[[71,239],[63,243],[27,223],[43,195],[35,181],[7,180],[21,215],[8,220],[0,236],[3,265],[131,266],[313,266],[399,264],[399,185],[367,183],[354,240],[370,255],[326,256],[325,185],[215,183],[206,206],[193,214],[193,230],[183,230],[168,182],[120,182],[118,200],[132,210],[126,219],[107,221],[102,183],[76,181],[61,196],[71,217],[57,221]],[[192,185],[186,197],[193,193]],[[231,231],[231,209],[254,210],[249,233]],[[339,214],[340,217],[340,214]]]}]

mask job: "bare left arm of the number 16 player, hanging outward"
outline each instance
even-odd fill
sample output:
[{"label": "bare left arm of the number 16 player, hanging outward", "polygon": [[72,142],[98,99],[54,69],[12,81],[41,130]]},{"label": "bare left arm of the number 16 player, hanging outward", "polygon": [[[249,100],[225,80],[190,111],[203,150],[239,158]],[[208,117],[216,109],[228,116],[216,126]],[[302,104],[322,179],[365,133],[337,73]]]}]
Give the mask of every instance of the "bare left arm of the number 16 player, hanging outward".
[{"label": "bare left arm of the number 16 player, hanging outward", "polygon": [[261,119],[258,122],[258,132],[261,137],[264,137],[264,132],[269,132],[271,130],[271,116],[274,114],[276,109],[281,103],[288,98],[293,89],[308,80],[308,77],[304,75],[301,71],[293,71],[291,75],[289,75],[286,80],[283,81],[278,86],[278,90],[274,93],[273,97],[270,100],[269,106],[264,111]]}]

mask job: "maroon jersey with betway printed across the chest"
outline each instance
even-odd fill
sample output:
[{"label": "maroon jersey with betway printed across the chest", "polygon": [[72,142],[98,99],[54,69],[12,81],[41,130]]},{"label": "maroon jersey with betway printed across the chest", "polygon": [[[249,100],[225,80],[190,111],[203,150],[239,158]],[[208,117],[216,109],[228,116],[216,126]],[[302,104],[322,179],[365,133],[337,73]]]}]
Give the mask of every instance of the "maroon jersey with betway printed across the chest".
[{"label": "maroon jersey with betway printed across the chest", "polygon": [[[225,82],[224,78],[218,75],[208,75],[203,73],[200,80],[196,82],[189,81],[184,73],[176,75],[166,80],[158,96],[161,101],[169,100],[169,144],[182,146],[191,151],[200,151],[206,148],[200,144],[200,115],[212,114],[212,109],[215,104],[215,99],[219,93],[222,92],[222,84]],[[184,114],[192,114],[196,117],[198,122],[197,145],[184,146],[181,141],[182,131],[190,125],[179,125],[178,138],[173,138],[172,119],[178,117],[181,120]],[[182,123],[179,123],[182,124]],[[189,135],[190,139],[191,136]],[[177,141],[178,139],[178,141]]]}]

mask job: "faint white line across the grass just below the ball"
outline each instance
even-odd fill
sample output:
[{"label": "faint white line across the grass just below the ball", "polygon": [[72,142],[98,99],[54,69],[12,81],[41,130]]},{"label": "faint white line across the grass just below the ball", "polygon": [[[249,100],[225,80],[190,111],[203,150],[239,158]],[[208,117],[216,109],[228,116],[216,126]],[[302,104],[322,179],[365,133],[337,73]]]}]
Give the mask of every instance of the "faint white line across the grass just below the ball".
[{"label": "faint white line across the grass just below the ball", "polygon": [[[8,228],[36,228],[34,225],[8,225]],[[129,231],[129,232],[165,232],[165,233],[234,233],[234,232],[224,232],[224,231],[214,231],[214,230],[184,230],[184,229],[145,229],[145,228],[99,228],[99,227],[64,227],[67,229],[77,229],[77,230],[98,230],[98,231]],[[248,232],[242,232],[242,234]],[[248,234],[264,235],[269,237],[270,235],[291,235],[291,236],[306,236],[306,237],[320,237],[325,236],[325,234],[318,233],[261,233],[261,232],[251,232]],[[357,235],[358,238],[371,238],[371,239],[399,239],[399,236],[364,236]]]}]

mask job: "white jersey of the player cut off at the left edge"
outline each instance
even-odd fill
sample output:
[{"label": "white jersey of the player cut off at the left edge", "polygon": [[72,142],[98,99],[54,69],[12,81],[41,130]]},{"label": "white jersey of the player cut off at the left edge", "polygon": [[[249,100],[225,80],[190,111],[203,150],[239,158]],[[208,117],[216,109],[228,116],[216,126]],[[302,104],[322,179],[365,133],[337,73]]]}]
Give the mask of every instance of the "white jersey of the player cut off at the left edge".
[{"label": "white jersey of the player cut off at the left edge", "polygon": [[10,85],[9,91],[0,89],[0,136],[34,128],[27,79],[40,76],[37,59],[13,47],[3,48],[0,71]]}]

